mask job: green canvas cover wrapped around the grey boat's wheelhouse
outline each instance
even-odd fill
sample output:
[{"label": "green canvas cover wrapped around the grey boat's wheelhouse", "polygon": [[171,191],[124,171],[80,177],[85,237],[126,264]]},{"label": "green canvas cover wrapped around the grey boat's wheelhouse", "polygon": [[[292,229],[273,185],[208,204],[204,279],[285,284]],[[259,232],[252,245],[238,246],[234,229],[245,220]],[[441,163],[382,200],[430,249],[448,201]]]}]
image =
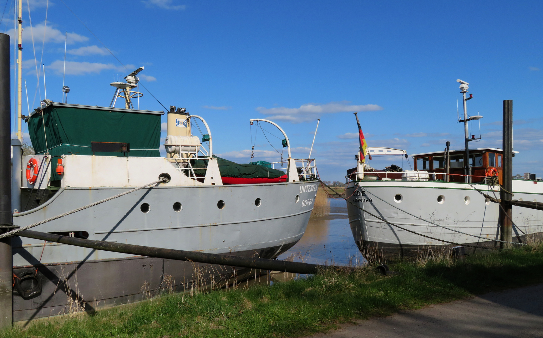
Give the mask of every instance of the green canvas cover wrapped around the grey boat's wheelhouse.
[{"label": "green canvas cover wrapped around the grey boat's wheelhouse", "polygon": [[[36,154],[47,151],[56,158],[61,155],[93,155],[91,142],[130,143],[129,156],[160,157],[161,113],[127,112],[126,110],[93,109],[91,106],[74,107],[67,104],[50,104],[29,117],[28,132]],[[44,136],[43,122],[45,122]],[[119,156],[123,153],[94,153],[94,155]],[[56,165],[52,180],[59,180]]]}]

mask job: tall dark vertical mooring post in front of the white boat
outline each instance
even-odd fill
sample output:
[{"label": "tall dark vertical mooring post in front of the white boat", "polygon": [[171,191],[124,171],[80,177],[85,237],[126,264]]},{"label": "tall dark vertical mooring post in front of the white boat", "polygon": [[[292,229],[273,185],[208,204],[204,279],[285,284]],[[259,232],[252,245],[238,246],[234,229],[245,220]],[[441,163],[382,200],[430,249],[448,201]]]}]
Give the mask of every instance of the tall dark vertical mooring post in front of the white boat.
[{"label": "tall dark vertical mooring post in front of the white boat", "polygon": [[[500,239],[512,241],[512,205],[509,203],[513,192],[513,100],[503,101],[503,171],[500,198],[503,209],[500,210]],[[503,211],[505,210],[505,211]],[[508,248],[510,244],[500,243],[500,248]]]}]

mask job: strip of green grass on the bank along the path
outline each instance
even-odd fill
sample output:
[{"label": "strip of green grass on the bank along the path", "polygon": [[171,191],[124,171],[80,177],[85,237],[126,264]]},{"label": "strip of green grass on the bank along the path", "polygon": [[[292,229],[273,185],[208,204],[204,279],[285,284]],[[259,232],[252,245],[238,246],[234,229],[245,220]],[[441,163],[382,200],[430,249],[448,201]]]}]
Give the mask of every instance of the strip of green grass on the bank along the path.
[{"label": "strip of green grass on the bank along the path", "polygon": [[338,323],[450,302],[543,281],[543,250],[514,249],[446,259],[399,262],[392,277],[372,268],[329,270],[307,279],[171,295],[134,305],[16,327],[0,337],[281,337],[332,329]]}]

